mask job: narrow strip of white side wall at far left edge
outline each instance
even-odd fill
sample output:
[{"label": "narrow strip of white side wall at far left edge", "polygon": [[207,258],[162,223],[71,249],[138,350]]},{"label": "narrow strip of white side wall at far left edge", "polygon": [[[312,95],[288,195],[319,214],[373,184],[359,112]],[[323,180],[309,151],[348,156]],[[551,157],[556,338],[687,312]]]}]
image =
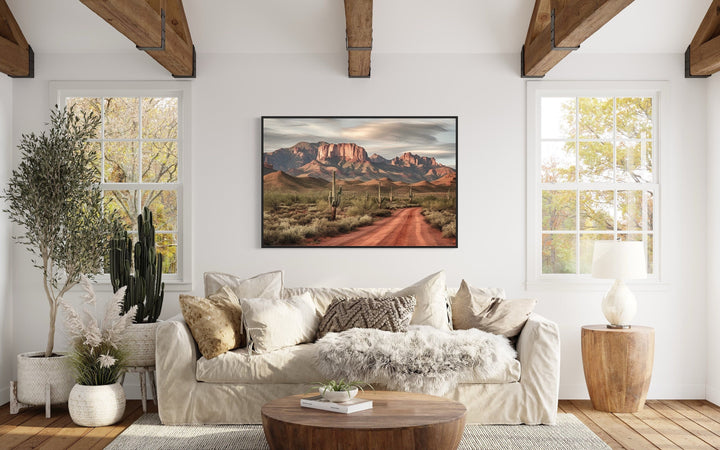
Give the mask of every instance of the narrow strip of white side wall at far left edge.
[{"label": "narrow strip of white side wall at far left edge", "polygon": [[[12,78],[0,75],[0,185],[7,183],[13,155]],[[13,348],[13,298],[10,263],[12,226],[0,214],[0,404],[8,398],[8,385],[15,363]]]}]

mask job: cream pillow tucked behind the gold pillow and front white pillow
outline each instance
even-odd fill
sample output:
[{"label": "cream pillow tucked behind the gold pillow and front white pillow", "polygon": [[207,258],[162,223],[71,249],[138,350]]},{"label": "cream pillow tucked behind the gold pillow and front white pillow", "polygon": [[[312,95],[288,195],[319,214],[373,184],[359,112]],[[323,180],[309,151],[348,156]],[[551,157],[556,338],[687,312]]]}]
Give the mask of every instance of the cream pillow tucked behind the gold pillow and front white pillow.
[{"label": "cream pillow tucked behind the gold pillow and front white pillow", "polygon": [[262,273],[252,278],[241,278],[221,272],[205,272],[205,297],[229,287],[237,298],[279,298],[282,295],[282,271]]}]

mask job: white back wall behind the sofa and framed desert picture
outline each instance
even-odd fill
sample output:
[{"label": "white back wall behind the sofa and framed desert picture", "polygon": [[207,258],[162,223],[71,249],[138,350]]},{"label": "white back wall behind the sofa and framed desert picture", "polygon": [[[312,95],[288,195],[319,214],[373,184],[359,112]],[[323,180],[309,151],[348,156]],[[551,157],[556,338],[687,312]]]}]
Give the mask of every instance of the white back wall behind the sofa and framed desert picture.
[{"label": "white back wall behind the sofa and framed desert picture", "polygon": [[[15,82],[14,132],[47,120],[50,80],[170,79],[142,54],[36,55]],[[601,291],[526,292],[525,80],[519,55],[373,55],[372,78],[348,79],[346,55],[198,55],[192,82],[194,291],[202,273],[281,268],[287,286],[403,286],[445,268],[448,282],[533,295],[562,331],[561,397],[587,396],[580,326],[603,323]],[[705,84],[683,78],[682,55],[571,55],[548,79],[669,80],[672,139],[663,143],[666,285],[636,290],[638,324],[656,328],[650,397],[704,398]],[[260,249],[260,116],[458,115],[458,249]],[[700,199],[700,202],[690,201]],[[16,350],[42,348],[39,273],[15,249]],[[179,311],[166,294],[163,317]],[[18,305],[20,302],[18,301]]]}]

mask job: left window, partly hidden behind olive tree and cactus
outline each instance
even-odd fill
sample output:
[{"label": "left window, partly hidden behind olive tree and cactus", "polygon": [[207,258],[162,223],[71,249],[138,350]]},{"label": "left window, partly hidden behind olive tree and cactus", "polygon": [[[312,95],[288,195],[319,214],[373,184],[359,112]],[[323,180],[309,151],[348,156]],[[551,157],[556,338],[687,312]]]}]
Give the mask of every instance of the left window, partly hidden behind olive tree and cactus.
[{"label": "left window, partly hidden behind olive tree and cactus", "polygon": [[[163,254],[164,279],[187,279],[189,245],[183,239],[189,210],[183,190],[186,124],[184,89],[57,89],[58,104],[92,111],[101,118],[96,139],[97,169],[105,208],[120,217],[133,240],[137,216],[153,214],[156,246]],[[186,152],[186,151],[185,151]],[[188,280],[189,281],[189,280]]]}]

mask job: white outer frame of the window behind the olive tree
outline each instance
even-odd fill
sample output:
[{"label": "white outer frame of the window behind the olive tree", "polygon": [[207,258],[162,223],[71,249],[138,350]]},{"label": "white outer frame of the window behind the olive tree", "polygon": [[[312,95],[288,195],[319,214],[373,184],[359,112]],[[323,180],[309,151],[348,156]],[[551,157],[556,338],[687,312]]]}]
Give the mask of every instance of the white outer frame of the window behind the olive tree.
[{"label": "white outer frame of the window behind the olive tree", "polygon": [[[50,106],[65,105],[70,97],[177,97],[178,99],[178,174],[179,181],[168,183],[177,192],[177,273],[163,274],[166,291],[192,289],[192,212],[190,165],[190,105],[189,81],[52,81],[49,87]],[[130,183],[132,189],[152,189],[146,183]],[[107,187],[127,188],[126,183],[106,183]],[[98,285],[110,288],[109,275],[96,277]],[[104,289],[102,289],[104,290]]]}]

